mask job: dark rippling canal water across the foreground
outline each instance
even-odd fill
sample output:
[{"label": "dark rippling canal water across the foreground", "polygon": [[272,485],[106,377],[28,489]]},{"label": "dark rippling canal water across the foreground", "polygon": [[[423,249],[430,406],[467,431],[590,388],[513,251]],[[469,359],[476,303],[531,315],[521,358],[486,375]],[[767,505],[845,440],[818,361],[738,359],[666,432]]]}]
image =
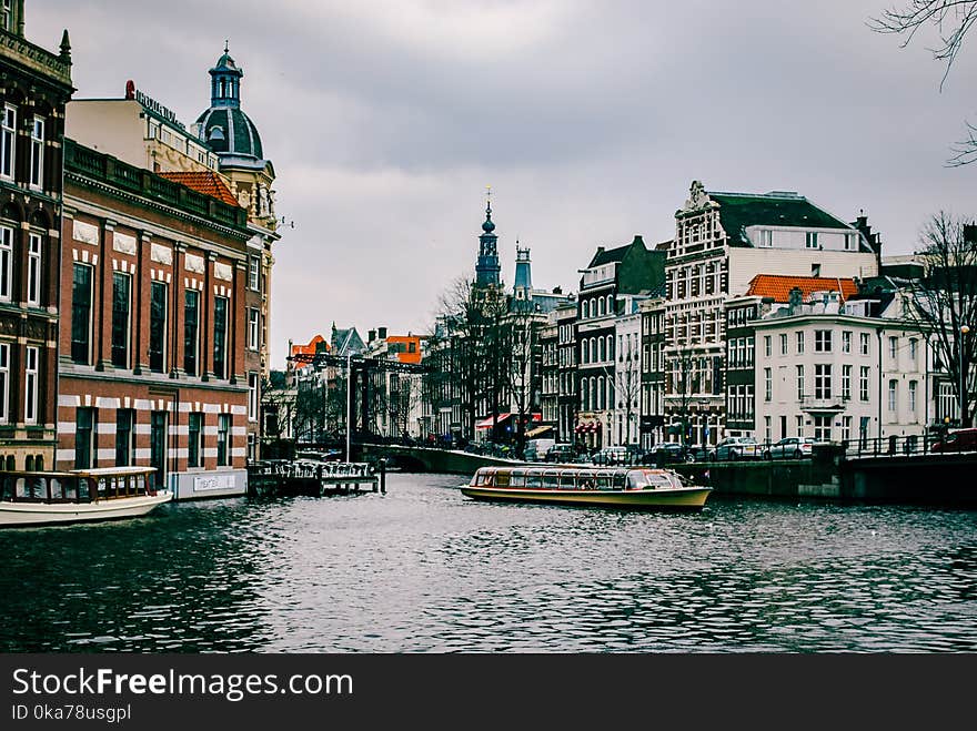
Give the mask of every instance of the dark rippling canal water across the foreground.
[{"label": "dark rippling canal water across the foreground", "polygon": [[974,652],[977,514],[387,494],[0,531],[2,652]]}]

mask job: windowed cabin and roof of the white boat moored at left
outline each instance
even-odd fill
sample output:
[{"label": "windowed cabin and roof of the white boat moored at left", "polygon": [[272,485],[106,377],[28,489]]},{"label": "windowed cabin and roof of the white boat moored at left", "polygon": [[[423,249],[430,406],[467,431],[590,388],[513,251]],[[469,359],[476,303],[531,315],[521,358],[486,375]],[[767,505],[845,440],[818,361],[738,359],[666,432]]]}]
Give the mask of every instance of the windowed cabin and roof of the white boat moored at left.
[{"label": "windowed cabin and roof of the white boat moored at left", "polygon": [[0,500],[71,504],[155,495],[153,467],[103,467],[69,471],[0,470]]}]

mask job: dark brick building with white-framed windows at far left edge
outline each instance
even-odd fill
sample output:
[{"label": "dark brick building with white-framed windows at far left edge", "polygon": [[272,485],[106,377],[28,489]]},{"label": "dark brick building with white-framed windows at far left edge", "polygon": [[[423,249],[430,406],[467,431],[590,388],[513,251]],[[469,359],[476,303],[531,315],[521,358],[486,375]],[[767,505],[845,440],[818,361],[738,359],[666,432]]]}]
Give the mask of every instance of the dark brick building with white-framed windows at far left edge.
[{"label": "dark brick building with white-framed windows at far left edge", "polygon": [[61,159],[71,85],[60,53],[24,38],[23,0],[0,9],[0,467],[54,466]]}]

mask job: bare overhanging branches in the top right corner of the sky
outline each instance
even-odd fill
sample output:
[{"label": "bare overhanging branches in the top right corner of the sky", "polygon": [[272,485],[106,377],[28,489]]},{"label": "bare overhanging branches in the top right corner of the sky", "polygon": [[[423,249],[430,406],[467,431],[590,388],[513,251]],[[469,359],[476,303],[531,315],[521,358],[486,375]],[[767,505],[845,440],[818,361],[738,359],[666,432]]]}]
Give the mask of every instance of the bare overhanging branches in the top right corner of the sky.
[{"label": "bare overhanging branches in the top right corner of the sky", "polygon": [[[964,45],[964,38],[977,22],[977,0],[905,0],[904,4],[884,10],[878,18],[872,18],[868,27],[878,33],[903,35],[902,48],[906,48],[916,33],[925,28],[936,29],[939,45],[929,49],[937,61],[944,61],[943,79],[939,88],[949,75],[950,68]],[[955,153],[947,165],[956,167],[977,161],[977,126],[965,122],[967,136],[953,148]]]}]

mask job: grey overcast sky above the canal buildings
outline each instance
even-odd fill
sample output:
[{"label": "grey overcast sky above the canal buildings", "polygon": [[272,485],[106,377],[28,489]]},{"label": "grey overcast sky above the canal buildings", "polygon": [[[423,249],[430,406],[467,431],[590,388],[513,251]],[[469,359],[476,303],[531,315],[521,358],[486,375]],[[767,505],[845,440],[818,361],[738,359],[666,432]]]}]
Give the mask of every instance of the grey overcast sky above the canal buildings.
[{"label": "grey overcast sky above the canal buildings", "polygon": [[[900,0],[899,0],[900,1]],[[866,21],[893,0],[27,0],[27,37],[69,29],[77,99],[125,80],[188,126],[230,41],[242,109],[294,221],[274,252],[272,366],[289,339],[355,325],[426,332],[473,275],[492,186],[502,273],[576,291],[598,245],[674,235],[693,180],[797,191],[885,254],[927,216],[975,213],[977,49],[940,90],[933,33]]]}]

